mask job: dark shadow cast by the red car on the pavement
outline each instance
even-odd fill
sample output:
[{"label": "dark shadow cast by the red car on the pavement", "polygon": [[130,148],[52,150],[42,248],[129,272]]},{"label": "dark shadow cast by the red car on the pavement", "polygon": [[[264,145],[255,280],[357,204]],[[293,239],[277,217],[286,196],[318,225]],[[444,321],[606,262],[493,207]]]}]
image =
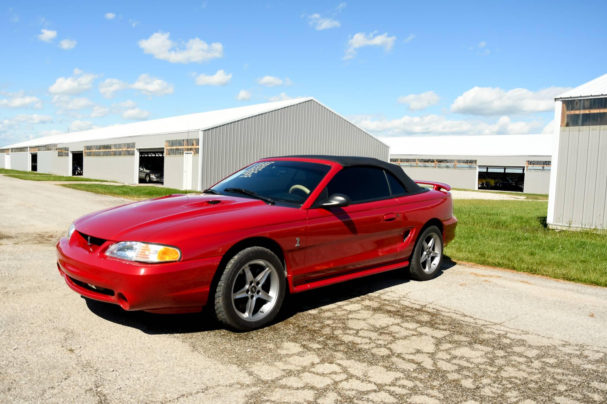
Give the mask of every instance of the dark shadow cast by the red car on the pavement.
[{"label": "dark shadow cast by the red car on the pavement", "polygon": [[[449,257],[444,256],[443,265],[436,274],[456,265]],[[435,278],[436,278],[435,277]],[[308,310],[364,296],[407,282],[415,282],[407,277],[406,269],[387,271],[335,285],[313,289],[293,295],[287,294],[282,309],[273,323],[282,322]],[[431,280],[429,282],[432,282]],[[104,320],[124,326],[140,329],[146,334],[187,334],[222,329],[210,310],[190,314],[154,314],[145,311],[125,311],[118,305],[99,302],[83,296],[89,310]]]}]

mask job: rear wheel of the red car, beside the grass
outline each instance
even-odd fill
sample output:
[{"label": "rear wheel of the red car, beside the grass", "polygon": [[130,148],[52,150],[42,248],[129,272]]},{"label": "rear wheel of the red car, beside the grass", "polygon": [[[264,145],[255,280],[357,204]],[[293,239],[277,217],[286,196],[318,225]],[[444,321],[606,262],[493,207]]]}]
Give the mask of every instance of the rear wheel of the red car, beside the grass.
[{"label": "rear wheel of the red car, beside the grass", "polygon": [[418,237],[411,254],[409,273],[416,280],[436,276],[443,262],[443,233],[436,226],[426,228]]}]

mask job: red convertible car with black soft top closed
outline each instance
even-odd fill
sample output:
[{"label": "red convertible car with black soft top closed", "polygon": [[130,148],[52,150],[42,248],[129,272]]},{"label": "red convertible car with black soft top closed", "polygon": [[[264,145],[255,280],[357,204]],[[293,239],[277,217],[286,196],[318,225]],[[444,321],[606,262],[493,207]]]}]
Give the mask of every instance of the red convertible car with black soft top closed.
[{"label": "red convertible car with black soft top closed", "polygon": [[265,326],[285,293],[406,268],[438,273],[455,236],[450,187],[366,157],[254,162],[208,190],[75,220],[57,243],[72,290],[124,310],[211,305],[232,329]]}]

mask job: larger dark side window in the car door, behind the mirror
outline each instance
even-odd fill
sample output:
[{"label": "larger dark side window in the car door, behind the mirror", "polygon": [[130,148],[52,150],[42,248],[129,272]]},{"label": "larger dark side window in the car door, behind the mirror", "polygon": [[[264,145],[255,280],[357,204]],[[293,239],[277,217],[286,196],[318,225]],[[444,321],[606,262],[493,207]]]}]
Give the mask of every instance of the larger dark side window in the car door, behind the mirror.
[{"label": "larger dark side window in the car door, behind the mirror", "polygon": [[384,170],[375,167],[346,167],[327,185],[327,196],[344,194],[353,204],[390,197]]}]

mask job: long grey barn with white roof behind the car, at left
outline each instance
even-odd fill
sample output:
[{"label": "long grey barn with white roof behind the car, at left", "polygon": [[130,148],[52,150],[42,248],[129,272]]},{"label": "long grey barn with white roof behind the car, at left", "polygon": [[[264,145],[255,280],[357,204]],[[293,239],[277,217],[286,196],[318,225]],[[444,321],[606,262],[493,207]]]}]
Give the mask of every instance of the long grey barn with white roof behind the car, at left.
[{"label": "long grey barn with white roof behind the car, at left", "polygon": [[[336,154],[388,160],[388,146],[313,98],[40,137],[10,145],[22,171],[137,184],[144,161],[166,187],[203,190],[257,159]],[[76,166],[81,165],[81,171]]]}]

